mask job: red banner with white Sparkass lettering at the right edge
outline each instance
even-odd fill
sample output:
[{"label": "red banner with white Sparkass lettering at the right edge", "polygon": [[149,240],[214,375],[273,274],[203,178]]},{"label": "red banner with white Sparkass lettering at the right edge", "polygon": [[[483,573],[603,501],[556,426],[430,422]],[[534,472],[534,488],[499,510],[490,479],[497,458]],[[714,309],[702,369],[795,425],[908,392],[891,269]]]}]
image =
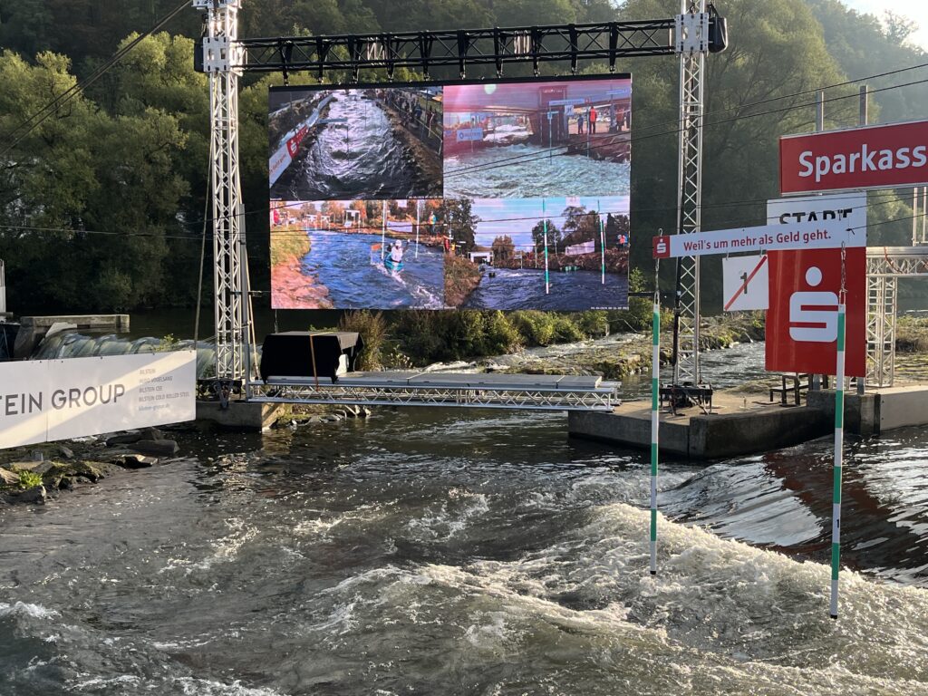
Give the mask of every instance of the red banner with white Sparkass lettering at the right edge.
[{"label": "red banner with white Sparkass lettering at the right edge", "polygon": [[925,183],[928,121],[780,137],[784,195]]}]

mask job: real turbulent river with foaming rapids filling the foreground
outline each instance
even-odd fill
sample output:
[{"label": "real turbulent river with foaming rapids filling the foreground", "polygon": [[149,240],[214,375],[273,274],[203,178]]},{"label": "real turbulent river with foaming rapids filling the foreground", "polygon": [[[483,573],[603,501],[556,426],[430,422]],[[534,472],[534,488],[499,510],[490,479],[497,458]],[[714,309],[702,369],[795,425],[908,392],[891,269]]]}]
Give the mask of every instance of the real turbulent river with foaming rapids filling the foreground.
[{"label": "real turbulent river with foaming rapids filling the foreground", "polygon": [[928,693],[923,430],[848,443],[835,622],[828,438],[666,463],[651,577],[646,456],[565,426],[177,433],[187,460],[0,509],[0,693]]}]

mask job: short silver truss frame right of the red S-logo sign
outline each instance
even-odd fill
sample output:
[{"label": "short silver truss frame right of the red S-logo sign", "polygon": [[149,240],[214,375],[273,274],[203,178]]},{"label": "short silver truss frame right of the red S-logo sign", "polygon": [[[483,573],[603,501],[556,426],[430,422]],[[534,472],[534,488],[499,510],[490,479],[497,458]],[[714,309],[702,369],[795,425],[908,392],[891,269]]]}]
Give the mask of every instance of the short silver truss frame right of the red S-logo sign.
[{"label": "short silver truss frame right of the red S-logo sign", "polygon": [[900,277],[928,276],[928,246],[867,250],[867,382],[891,387],[896,377],[896,298]]}]

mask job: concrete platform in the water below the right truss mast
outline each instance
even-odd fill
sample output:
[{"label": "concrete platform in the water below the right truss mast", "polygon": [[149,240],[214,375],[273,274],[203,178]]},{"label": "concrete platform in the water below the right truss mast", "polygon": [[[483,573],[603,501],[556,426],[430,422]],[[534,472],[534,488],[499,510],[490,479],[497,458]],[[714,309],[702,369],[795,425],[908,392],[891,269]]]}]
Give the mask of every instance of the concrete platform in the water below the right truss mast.
[{"label": "concrete platform in the water below the right truss mast", "polygon": [[[694,460],[736,457],[821,437],[831,432],[833,422],[818,407],[769,404],[760,394],[716,393],[710,414],[695,406],[676,416],[662,409],[660,449],[664,456]],[[628,402],[612,413],[570,413],[568,432],[648,449],[651,402]]]}]

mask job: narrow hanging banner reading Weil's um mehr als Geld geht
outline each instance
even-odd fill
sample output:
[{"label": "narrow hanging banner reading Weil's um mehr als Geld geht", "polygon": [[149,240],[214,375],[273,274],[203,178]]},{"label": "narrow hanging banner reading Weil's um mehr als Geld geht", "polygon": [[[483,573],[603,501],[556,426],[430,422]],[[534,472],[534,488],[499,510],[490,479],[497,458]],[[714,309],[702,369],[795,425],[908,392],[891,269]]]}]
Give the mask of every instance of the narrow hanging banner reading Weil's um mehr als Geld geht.
[{"label": "narrow hanging banner reading Weil's um mehr als Geld geht", "polygon": [[866,247],[867,230],[848,229],[844,221],[839,220],[717,229],[689,235],[655,237],[652,251],[655,259],[673,259],[742,251],[840,249],[842,244],[846,247]]}]

